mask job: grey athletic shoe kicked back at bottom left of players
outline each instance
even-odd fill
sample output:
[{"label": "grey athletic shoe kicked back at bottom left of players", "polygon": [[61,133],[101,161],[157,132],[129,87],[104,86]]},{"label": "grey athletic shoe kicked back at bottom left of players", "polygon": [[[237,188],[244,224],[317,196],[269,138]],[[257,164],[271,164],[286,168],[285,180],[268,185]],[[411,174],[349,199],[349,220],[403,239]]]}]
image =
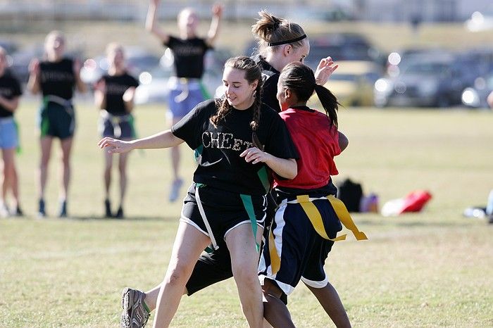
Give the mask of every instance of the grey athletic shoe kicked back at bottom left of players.
[{"label": "grey athletic shoe kicked back at bottom left of players", "polygon": [[146,294],[137,289],[125,288],[122,293],[122,316],[120,326],[122,328],[144,327],[149,319],[149,313],[144,308]]}]

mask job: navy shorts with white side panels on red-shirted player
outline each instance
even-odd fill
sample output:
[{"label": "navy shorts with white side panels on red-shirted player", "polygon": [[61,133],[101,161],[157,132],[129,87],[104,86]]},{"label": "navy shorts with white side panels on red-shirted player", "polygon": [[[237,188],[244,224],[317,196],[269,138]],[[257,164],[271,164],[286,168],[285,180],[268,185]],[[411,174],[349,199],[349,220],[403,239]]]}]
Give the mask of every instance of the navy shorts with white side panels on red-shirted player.
[{"label": "navy shorts with white side panels on red-shirted player", "polygon": [[[334,239],[342,224],[330,201],[322,198],[312,203],[322,217],[325,232]],[[333,244],[316,232],[299,203],[283,201],[263,246],[258,265],[261,283],[273,280],[287,295],[300,279],[308,286],[323,288],[328,282],[323,265]]]}]

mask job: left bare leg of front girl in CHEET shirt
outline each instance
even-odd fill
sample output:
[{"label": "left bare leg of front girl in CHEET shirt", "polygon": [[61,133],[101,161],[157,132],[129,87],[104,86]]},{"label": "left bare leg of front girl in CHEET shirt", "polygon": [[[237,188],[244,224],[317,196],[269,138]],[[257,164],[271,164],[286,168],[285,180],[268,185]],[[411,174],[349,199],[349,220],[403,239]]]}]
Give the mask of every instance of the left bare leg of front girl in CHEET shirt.
[{"label": "left bare leg of front girl in CHEET shirt", "polygon": [[170,264],[159,291],[154,328],[168,327],[176,313],[185,284],[200,253],[211,242],[208,236],[185,222],[180,222],[173,244]]}]

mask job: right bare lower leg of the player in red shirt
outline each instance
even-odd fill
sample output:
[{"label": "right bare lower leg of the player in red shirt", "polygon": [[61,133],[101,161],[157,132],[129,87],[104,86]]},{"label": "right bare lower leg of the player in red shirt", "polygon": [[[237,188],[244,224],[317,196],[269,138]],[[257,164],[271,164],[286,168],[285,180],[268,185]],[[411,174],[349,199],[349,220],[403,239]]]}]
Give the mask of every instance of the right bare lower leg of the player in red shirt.
[{"label": "right bare lower leg of the player in red shirt", "polygon": [[323,288],[314,288],[312,286],[308,286],[308,289],[316,296],[320,305],[322,305],[325,313],[329,315],[330,319],[336,327],[338,328],[350,328],[351,322],[349,322],[349,317],[347,317],[346,310],[344,309],[344,305],[342,305],[341,298],[339,298],[339,294],[335,290],[334,286],[330,283],[327,283],[327,286]]}]

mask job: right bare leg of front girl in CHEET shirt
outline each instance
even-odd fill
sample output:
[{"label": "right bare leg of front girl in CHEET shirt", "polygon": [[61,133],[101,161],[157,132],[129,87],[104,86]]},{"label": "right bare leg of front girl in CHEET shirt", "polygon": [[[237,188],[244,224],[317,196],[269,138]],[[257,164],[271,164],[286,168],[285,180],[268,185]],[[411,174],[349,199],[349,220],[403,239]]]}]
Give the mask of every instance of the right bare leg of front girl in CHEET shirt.
[{"label": "right bare leg of front girl in CHEET shirt", "polygon": [[[260,244],[263,229],[258,229],[256,240]],[[239,225],[225,236],[231,253],[231,267],[242,302],[243,314],[249,327],[263,327],[262,291],[258,282],[258,256],[251,225]]]}]

